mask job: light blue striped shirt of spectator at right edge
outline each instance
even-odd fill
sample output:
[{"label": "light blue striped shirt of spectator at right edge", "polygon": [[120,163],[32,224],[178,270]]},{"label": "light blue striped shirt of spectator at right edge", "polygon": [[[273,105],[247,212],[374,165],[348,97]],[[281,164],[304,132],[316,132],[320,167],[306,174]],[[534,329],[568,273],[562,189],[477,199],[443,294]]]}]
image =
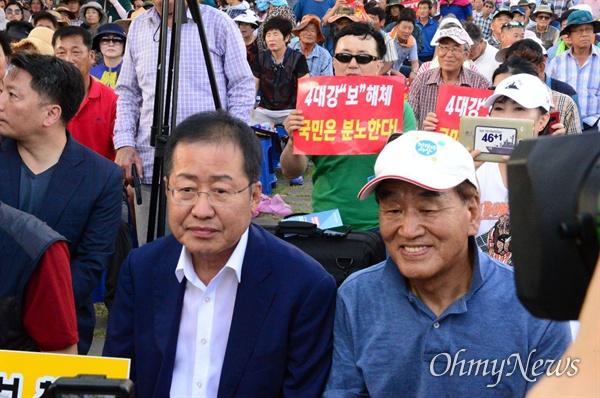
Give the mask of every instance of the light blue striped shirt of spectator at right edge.
[{"label": "light blue striped shirt of spectator at right edge", "polygon": [[600,48],[591,48],[592,54],[581,67],[570,48],[552,59],[546,70],[548,75],[577,91],[581,118],[590,126],[600,118]]}]

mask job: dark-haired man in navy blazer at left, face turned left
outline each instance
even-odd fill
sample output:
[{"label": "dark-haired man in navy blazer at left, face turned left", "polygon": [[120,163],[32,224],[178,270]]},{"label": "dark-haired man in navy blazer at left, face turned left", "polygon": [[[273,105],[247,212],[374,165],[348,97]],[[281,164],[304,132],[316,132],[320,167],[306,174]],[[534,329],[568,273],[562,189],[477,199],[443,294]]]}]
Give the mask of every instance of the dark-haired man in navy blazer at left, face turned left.
[{"label": "dark-haired man in navy blazer at left, face turned left", "polygon": [[14,55],[0,90],[0,200],[69,240],[80,354],[93,339],[92,292],[114,249],[123,184],[118,166],[66,130],[83,95],[73,65],[37,54]]}]

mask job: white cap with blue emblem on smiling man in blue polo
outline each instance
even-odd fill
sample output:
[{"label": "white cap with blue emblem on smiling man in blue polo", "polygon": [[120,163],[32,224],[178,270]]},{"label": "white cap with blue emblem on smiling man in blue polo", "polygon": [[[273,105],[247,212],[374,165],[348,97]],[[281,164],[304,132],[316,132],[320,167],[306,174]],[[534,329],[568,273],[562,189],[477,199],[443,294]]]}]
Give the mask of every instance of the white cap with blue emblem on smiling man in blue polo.
[{"label": "white cap with blue emblem on smiling man in blue polo", "polygon": [[479,191],[469,151],[442,133],[408,131],[387,144],[375,162],[375,178],[358,193],[371,195],[384,180],[402,180],[430,191],[447,191],[468,180]]}]

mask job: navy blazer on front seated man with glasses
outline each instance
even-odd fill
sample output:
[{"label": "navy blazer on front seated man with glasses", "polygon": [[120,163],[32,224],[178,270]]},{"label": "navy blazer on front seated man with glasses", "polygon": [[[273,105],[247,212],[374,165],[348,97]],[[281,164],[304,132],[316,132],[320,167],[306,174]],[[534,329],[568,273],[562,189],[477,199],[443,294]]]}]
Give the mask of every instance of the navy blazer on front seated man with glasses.
[{"label": "navy blazer on front seated man with glasses", "polygon": [[[133,250],[121,268],[104,355],[131,358],[139,397],[169,396],[185,292],[175,276],[181,249],[169,235]],[[251,224],[219,397],[320,396],[335,296],[319,263]]]}]

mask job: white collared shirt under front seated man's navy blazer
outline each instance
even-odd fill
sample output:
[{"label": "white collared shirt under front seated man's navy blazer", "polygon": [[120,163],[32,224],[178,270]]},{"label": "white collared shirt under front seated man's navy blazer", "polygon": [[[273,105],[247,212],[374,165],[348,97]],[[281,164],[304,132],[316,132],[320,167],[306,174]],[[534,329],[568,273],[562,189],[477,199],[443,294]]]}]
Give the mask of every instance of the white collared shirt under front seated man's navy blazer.
[{"label": "white collared shirt under front seated man's navy blazer", "polygon": [[175,276],[187,280],[177,336],[171,397],[216,397],[242,263],[248,244],[244,232],[227,264],[209,282],[198,278],[191,253],[183,247]]}]

